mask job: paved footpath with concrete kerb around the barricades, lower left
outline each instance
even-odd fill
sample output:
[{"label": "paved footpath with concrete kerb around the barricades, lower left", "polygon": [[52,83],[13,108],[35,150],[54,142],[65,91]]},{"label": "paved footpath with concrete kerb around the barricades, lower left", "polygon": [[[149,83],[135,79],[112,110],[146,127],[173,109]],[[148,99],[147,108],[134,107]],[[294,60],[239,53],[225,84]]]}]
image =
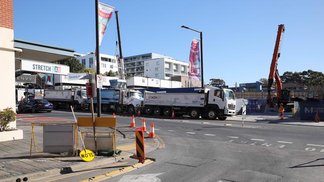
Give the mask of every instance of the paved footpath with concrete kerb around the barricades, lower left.
[{"label": "paved footpath with concrete kerb around the barricades, lower left", "polygon": [[[50,121],[45,121],[50,122]],[[61,121],[62,122],[62,121]],[[65,121],[63,121],[65,122]],[[68,122],[68,121],[66,121]],[[0,182],[12,182],[20,178],[28,181],[46,176],[68,174],[79,170],[116,163],[127,159],[136,153],[135,128],[117,126],[117,149],[123,152],[116,157],[96,156],[92,162],[83,162],[80,157],[33,157],[29,155],[31,141],[30,121],[17,118],[17,128],[23,130],[22,140],[0,142]],[[34,127],[37,150],[42,151],[43,132],[41,126]],[[147,133],[145,135],[148,135]],[[156,139],[146,138],[146,151],[150,152],[159,147]],[[82,147],[81,147],[82,148]],[[34,152],[33,155],[44,155]]]}]

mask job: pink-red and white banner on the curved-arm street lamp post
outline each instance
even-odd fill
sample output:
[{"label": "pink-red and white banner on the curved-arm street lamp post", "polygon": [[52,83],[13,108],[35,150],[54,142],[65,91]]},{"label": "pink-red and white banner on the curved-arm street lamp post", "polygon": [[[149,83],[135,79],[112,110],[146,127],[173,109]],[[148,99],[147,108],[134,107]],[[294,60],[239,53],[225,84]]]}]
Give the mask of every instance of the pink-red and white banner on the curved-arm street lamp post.
[{"label": "pink-red and white banner on the curved-arm street lamp post", "polygon": [[189,56],[189,80],[201,81],[199,39],[193,38]]}]

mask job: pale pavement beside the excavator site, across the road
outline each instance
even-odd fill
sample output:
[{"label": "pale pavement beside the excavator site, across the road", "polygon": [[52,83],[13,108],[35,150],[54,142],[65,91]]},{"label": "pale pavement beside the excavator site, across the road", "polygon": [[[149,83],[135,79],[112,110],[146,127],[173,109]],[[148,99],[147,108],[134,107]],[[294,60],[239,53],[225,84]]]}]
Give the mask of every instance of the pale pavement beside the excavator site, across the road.
[{"label": "pale pavement beside the excavator site, across the road", "polygon": [[[242,122],[241,115],[228,117],[229,121]],[[292,116],[291,112],[284,113],[284,119],[280,119],[280,114],[275,112],[264,112],[264,113],[248,113],[245,122],[256,122],[256,123],[275,123],[275,124],[289,124],[289,125],[303,125],[303,126],[321,126],[324,127],[324,122],[306,121],[296,119]]]}]

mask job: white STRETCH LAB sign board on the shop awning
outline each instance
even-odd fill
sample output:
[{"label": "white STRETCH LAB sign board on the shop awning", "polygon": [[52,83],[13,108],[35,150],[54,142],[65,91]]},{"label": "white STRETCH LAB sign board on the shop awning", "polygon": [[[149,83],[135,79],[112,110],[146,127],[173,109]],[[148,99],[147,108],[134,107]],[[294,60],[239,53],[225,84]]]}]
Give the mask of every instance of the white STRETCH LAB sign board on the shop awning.
[{"label": "white STRETCH LAB sign board on the shop awning", "polygon": [[56,75],[67,75],[70,72],[70,67],[60,64],[21,60],[20,70],[38,73],[50,73]]}]

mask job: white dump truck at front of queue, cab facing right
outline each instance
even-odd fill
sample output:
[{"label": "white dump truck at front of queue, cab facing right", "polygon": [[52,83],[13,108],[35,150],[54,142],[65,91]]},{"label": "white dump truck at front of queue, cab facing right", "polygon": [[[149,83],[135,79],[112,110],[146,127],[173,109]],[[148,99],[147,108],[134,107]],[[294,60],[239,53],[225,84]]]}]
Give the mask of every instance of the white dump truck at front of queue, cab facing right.
[{"label": "white dump truck at front of queue, cab facing right", "polygon": [[144,92],[146,114],[188,114],[191,118],[220,119],[235,115],[235,94],[229,89],[206,86],[202,93],[157,93]]}]

